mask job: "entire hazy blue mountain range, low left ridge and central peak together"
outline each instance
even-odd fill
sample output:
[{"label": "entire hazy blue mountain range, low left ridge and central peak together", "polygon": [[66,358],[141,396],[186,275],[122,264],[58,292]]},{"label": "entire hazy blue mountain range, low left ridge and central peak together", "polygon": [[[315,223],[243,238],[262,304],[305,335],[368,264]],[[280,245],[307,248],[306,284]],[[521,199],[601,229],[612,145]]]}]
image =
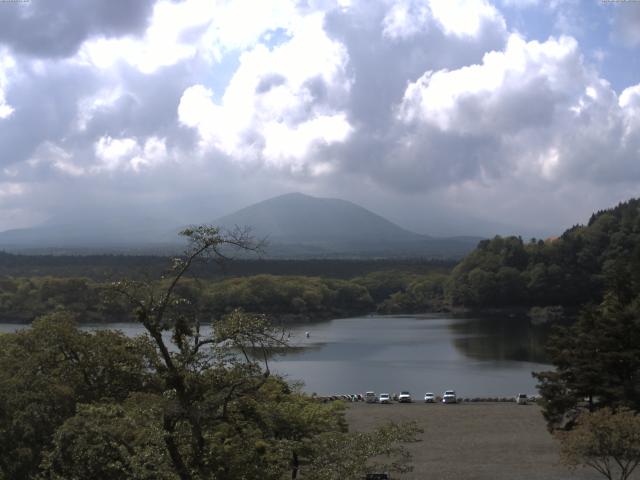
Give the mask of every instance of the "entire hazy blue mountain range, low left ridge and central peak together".
[{"label": "entire hazy blue mountain range, low left ridge and central peak together", "polygon": [[[182,245],[180,228],[159,219],[96,217],[0,232],[0,248],[24,253],[173,254]],[[479,240],[420,235],[354,203],[300,193],[256,203],[212,223],[229,229],[250,227],[256,238],[267,238],[266,256],[279,258],[452,258],[471,251]]]}]

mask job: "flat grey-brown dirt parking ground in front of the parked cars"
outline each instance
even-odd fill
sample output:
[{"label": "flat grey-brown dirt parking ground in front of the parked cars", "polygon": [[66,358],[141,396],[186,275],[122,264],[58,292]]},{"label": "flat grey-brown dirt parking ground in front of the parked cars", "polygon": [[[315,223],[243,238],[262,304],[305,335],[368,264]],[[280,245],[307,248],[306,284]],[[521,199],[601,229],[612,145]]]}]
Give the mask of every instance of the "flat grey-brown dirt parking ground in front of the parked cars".
[{"label": "flat grey-brown dirt parking ground in front of the parked cars", "polygon": [[354,403],[347,422],[366,431],[388,421],[415,421],[421,442],[409,445],[414,471],[402,479],[421,480],[596,480],[595,472],[571,472],[559,463],[558,445],[536,405]]}]

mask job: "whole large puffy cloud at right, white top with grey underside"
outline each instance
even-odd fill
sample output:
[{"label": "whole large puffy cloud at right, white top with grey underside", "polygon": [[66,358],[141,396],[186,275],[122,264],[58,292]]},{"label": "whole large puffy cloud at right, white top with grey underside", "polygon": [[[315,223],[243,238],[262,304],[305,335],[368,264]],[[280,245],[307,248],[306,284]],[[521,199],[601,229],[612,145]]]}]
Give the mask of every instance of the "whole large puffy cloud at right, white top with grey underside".
[{"label": "whole large puffy cloud at right, white top with grey underside", "polygon": [[[394,154],[420,158],[416,148],[444,141],[452,182],[460,172],[486,185],[503,177],[529,185],[640,179],[639,107],[640,87],[618,97],[573,38],[540,43],[513,34],[481,64],[429,71],[408,85],[396,114],[412,133]],[[469,144],[466,157],[453,154],[453,139]],[[427,155],[422,161],[440,158]]]}]

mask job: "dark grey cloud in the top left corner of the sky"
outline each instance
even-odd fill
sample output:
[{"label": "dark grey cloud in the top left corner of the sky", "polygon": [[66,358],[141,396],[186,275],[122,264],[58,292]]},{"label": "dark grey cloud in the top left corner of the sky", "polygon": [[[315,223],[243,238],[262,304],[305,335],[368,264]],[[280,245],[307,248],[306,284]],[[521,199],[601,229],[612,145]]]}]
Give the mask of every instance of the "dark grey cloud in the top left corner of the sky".
[{"label": "dark grey cloud in the top left corner of the sky", "polygon": [[0,44],[39,58],[68,57],[92,37],[141,33],[155,0],[0,4]]}]

